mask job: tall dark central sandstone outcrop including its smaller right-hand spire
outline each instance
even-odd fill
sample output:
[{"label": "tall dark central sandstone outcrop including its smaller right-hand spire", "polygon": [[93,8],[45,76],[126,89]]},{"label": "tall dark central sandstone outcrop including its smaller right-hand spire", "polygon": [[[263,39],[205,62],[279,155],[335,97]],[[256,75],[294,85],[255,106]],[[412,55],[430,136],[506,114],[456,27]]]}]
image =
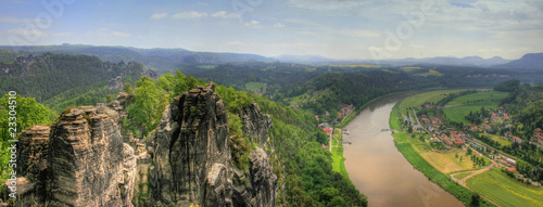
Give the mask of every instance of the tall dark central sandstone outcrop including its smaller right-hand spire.
[{"label": "tall dark central sandstone outcrop including its smaller right-hand spire", "polygon": [[228,117],[214,89],[174,99],[148,135],[151,205],[275,206],[277,178],[263,150],[251,158],[250,180],[231,164]]}]

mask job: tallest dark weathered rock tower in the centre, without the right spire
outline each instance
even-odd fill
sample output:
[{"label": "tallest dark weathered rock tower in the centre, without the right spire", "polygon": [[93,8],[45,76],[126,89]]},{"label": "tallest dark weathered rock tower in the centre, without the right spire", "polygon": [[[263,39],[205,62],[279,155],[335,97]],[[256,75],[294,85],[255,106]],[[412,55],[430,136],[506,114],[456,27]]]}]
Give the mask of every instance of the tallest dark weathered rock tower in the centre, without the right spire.
[{"label": "tallest dark weathered rock tower in the centre, without the right spire", "polygon": [[199,87],[174,100],[149,139],[152,199],[204,204],[206,174],[215,164],[229,168],[228,118],[214,88]]}]

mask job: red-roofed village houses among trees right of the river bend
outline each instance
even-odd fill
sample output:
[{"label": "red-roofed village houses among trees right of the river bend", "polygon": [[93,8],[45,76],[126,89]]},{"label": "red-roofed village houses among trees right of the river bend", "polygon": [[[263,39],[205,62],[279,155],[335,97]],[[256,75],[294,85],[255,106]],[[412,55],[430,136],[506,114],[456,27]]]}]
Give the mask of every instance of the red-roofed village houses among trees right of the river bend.
[{"label": "red-roofed village houses among trees right of the river bend", "polygon": [[[425,103],[417,108],[412,108],[413,114],[409,112],[407,116],[403,116],[405,129],[407,131],[429,134],[429,137],[425,139],[425,142],[429,143],[429,146],[432,147],[432,152],[440,153],[453,148],[472,151],[477,156],[489,159],[491,161],[490,168],[506,167],[507,173],[513,174],[517,180],[541,186],[541,183],[525,178],[517,172],[517,160],[515,157],[475,138],[477,134],[479,134],[479,137],[484,134],[488,137],[492,135],[494,139],[501,139],[500,143],[522,143],[522,139],[512,133],[510,129],[515,122],[509,115],[504,112],[503,107],[497,109],[485,109],[490,116],[488,118],[483,117],[480,125],[468,124],[460,129],[443,120],[444,115],[441,109],[444,107],[449,106],[435,106]],[[498,130],[503,132],[503,135],[495,135]],[[530,143],[536,145],[536,147],[543,146],[543,130],[541,128],[536,128],[533,131],[533,138],[530,140]]]}]

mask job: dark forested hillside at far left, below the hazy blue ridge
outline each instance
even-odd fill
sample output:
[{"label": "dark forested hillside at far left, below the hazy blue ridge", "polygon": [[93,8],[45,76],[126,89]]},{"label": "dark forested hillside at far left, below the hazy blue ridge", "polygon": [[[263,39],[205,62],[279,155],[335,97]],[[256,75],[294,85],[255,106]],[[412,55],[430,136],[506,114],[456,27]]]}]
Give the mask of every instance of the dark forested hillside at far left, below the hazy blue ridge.
[{"label": "dark forested hillside at far left, below the hazy blue ridge", "polygon": [[[83,54],[22,54],[14,62],[0,61],[0,94],[15,91],[50,107],[83,95],[73,100],[73,105],[93,105],[140,76],[157,78],[154,70],[137,62],[112,63]],[[88,91],[94,93],[85,94]]]}]

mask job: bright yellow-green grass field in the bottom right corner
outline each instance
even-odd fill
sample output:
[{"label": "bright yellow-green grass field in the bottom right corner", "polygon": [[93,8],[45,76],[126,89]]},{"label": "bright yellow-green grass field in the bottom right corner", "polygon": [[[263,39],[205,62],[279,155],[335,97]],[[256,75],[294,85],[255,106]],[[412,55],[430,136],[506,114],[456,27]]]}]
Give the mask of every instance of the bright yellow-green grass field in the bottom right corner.
[{"label": "bright yellow-green grass field in the bottom right corner", "polygon": [[543,187],[518,182],[498,168],[468,179],[467,185],[501,206],[543,206]]}]

